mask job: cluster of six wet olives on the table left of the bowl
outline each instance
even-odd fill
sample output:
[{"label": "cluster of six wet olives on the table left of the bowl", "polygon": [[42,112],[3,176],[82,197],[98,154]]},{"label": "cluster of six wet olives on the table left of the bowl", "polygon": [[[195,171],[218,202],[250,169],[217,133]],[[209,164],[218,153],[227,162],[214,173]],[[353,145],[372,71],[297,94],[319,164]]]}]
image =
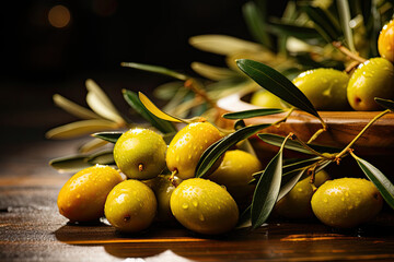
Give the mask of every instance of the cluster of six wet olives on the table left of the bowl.
[{"label": "cluster of six wet olives on the table left of the bowl", "polygon": [[206,235],[229,231],[237,223],[239,203],[253,193],[248,182],[262,165],[254,155],[233,150],[213,166],[209,180],[195,178],[201,154],[221,138],[209,122],[186,126],[169,146],[152,130],[130,129],[114,146],[115,163],[127,179],[108,166],[79,171],[60,190],[60,214],[72,222],[105,215],[127,233],[143,230],[154,221],[177,221]]}]

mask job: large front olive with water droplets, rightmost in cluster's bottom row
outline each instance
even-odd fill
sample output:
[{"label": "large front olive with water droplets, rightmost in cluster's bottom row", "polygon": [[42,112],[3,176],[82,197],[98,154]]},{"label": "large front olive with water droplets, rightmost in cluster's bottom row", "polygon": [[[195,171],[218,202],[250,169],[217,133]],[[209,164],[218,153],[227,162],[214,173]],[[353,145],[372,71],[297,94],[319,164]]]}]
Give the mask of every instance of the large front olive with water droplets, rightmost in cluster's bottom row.
[{"label": "large front olive with water droplets, rightmost in cluster's bottom row", "polygon": [[219,184],[190,178],[181,182],[170,200],[175,218],[186,228],[205,235],[231,230],[239,219],[235,201]]}]

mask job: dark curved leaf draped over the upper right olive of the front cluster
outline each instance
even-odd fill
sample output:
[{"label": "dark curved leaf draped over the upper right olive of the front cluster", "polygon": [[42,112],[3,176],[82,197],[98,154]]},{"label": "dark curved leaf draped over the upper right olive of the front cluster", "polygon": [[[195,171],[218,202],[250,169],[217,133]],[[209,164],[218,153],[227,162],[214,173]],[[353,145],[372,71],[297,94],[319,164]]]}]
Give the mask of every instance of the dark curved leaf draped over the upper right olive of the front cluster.
[{"label": "dark curved leaf draped over the upper right olive of the front cluster", "polygon": [[255,134],[259,130],[270,127],[270,124],[263,123],[256,126],[248,126],[242,129],[236,130],[235,132],[227,135],[225,138],[219,140],[218,142],[210,145],[201,155],[196,167],[196,177],[205,176],[211,166],[219,159],[219,157],[231,146],[237,142],[247,139],[248,136]]}]

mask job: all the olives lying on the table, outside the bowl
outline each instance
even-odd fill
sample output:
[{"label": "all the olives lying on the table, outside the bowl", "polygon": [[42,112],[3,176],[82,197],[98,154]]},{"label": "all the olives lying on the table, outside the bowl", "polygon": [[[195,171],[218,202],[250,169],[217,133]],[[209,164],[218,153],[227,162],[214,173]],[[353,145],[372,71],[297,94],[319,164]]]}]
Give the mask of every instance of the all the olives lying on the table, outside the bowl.
[{"label": "all the olives lying on the table, outside the bowl", "polygon": [[[97,221],[105,215],[125,233],[144,230],[154,222],[176,221],[198,234],[227,233],[237,224],[240,210],[250,204],[254,191],[250,181],[263,166],[254,155],[230,150],[207,179],[195,178],[199,157],[221,138],[209,122],[186,126],[169,146],[152,130],[130,129],[114,146],[119,170],[96,165],[77,172],[60,190],[59,212],[71,222]],[[322,170],[314,183],[310,178],[299,181],[277,203],[275,213],[287,218],[315,215],[334,227],[352,227],[381,210],[383,201],[372,182],[328,179]]]}]

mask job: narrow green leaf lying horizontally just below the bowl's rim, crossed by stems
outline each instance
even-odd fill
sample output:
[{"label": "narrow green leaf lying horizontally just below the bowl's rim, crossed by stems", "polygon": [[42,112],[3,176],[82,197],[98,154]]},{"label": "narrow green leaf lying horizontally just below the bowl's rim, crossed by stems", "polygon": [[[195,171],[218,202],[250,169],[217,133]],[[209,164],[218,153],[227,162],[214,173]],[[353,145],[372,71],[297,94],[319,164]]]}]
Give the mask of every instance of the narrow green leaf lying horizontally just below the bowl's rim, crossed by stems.
[{"label": "narrow green leaf lying horizontally just below the bowl's rim, crossed by stems", "polygon": [[[280,146],[285,140],[285,136],[281,135],[277,135],[277,134],[270,134],[270,133],[259,133],[257,134],[257,136],[263,140],[264,142],[271,144],[271,145],[276,145],[276,146]],[[331,147],[331,146],[324,146],[324,145],[316,145],[316,144],[308,144],[308,146],[310,146],[311,148],[317,151],[318,153],[339,153],[340,148],[336,148],[336,147]],[[297,151],[300,153],[304,153],[304,154],[310,154],[313,155],[312,152],[310,152],[309,150],[306,150],[305,147],[303,147],[299,142],[290,140],[286,143],[285,145],[286,148],[291,150],[291,151]]]}]

